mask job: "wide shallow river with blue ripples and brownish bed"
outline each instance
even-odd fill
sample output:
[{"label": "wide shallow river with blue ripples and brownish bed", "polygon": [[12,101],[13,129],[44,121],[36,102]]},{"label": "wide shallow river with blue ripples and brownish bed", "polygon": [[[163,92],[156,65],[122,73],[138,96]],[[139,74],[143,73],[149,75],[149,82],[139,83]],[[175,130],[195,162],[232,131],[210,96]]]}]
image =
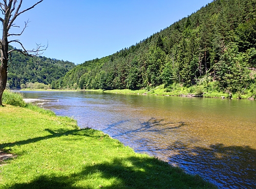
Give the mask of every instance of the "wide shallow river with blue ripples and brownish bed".
[{"label": "wide shallow river with blue ripples and brownish bed", "polygon": [[220,188],[256,188],[256,101],[103,92],[23,91],[81,128],[199,174]]}]

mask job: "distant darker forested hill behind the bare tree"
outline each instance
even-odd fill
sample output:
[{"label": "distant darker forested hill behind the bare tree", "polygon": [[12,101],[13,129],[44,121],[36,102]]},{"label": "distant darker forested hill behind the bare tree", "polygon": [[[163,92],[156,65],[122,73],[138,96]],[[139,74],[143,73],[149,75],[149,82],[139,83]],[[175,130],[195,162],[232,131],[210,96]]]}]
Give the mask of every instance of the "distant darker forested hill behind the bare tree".
[{"label": "distant darker forested hill behind the bare tree", "polygon": [[[10,46],[10,49],[13,48]],[[13,52],[9,58],[8,81],[10,88],[20,88],[26,83],[44,83],[63,78],[75,64],[69,61],[56,60],[46,57],[29,57]]]}]

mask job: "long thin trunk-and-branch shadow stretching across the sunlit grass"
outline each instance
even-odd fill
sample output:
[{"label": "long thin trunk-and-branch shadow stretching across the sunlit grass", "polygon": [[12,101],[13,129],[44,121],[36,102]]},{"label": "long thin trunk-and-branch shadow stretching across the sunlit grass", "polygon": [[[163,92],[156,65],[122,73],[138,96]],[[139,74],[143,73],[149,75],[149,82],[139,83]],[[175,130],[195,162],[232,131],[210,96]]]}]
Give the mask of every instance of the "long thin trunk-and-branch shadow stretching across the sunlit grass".
[{"label": "long thin trunk-and-branch shadow stretching across the sunlit grass", "polygon": [[[90,130],[90,132],[88,132]],[[57,131],[52,131],[50,129],[45,129],[45,131],[48,131],[50,135],[47,136],[39,136],[35,138],[29,138],[27,140],[20,140],[20,141],[15,141],[13,143],[4,143],[0,144],[0,149],[4,149],[6,147],[13,147],[13,146],[20,146],[20,145],[27,145],[30,143],[36,143],[37,141],[40,140],[45,140],[45,139],[50,139],[50,138],[56,138],[60,137],[63,135],[82,135],[82,136],[88,136],[91,137],[94,132],[97,132],[93,129],[85,128],[85,129],[75,129],[75,130],[57,130]],[[86,131],[86,132],[85,132]]]}]

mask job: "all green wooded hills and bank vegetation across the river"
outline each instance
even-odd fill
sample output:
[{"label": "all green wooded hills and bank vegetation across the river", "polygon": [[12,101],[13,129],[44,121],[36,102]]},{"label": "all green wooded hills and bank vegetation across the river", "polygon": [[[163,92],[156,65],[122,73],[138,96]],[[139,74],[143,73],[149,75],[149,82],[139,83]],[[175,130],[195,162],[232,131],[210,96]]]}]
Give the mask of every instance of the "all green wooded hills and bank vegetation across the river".
[{"label": "all green wooded hills and bank vegetation across the river", "polygon": [[256,0],[215,0],[129,48],[76,66],[14,54],[8,82],[17,88],[255,99],[255,5]]}]

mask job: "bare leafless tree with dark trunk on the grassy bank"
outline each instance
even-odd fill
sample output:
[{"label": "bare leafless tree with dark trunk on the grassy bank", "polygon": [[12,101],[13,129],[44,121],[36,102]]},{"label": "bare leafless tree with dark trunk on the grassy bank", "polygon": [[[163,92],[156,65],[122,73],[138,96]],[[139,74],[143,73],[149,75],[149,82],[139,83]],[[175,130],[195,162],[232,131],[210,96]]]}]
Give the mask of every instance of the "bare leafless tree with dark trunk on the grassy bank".
[{"label": "bare leafless tree with dark trunk on the grassy bank", "polygon": [[[9,0],[9,1],[2,0],[0,3],[0,11],[2,12],[2,16],[0,16],[0,21],[2,22],[2,25],[3,25],[3,38],[0,39],[0,52],[1,52],[1,57],[0,57],[0,60],[1,60],[1,65],[0,65],[0,106],[3,106],[2,96],[3,96],[3,92],[5,90],[6,83],[7,83],[7,73],[8,73],[7,69],[8,69],[8,60],[9,60],[10,53],[13,51],[18,51],[27,56],[37,56],[41,53],[41,51],[44,51],[47,49],[47,47],[45,48],[45,46],[37,44],[37,47],[35,49],[26,50],[24,48],[22,42],[20,42],[19,40],[8,41],[8,37],[10,37],[10,36],[22,35],[24,30],[27,28],[27,25],[29,22],[29,21],[25,22],[25,27],[23,28],[23,30],[20,33],[18,33],[18,34],[9,33],[9,31],[12,27],[19,28],[19,26],[16,26],[14,23],[15,19],[20,14],[22,14],[30,9],[33,9],[36,5],[38,5],[42,1],[43,0],[37,2],[33,6],[27,8],[23,11],[20,11],[20,7],[22,6],[23,0],[20,0],[19,3],[17,3],[18,2],[17,0]],[[13,49],[13,50],[8,51],[9,44],[12,42],[18,43],[20,46],[22,46],[22,50]]]}]

